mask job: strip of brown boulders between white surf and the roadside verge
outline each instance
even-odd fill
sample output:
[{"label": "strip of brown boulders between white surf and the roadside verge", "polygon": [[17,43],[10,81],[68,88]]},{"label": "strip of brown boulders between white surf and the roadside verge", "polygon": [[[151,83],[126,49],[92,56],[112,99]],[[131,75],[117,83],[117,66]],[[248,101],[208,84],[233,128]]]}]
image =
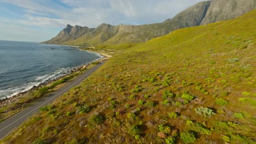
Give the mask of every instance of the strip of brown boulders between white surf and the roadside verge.
[{"label": "strip of brown boulders between white surf and the roadside verge", "polygon": [[74,69],[68,71],[65,75],[57,77],[56,79],[53,79],[53,80],[47,80],[43,83],[40,83],[38,86],[33,86],[30,90],[28,90],[26,92],[18,93],[18,94],[14,95],[12,97],[9,97],[9,98],[0,99],[0,107],[7,106],[11,103],[15,103],[16,101],[19,101],[21,98],[25,97],[26,95],[28,95],[28,94],[30,94],[34,91],[37,91],[39,88],[42,88],[42,87],[45,87],[45,86],[50,86],[51,84],[53,84],[57,80],[60,80],[63,77],[66,77],[68,75],[74,74],[74,73],[76,73],[76,72],[78,72],[82,69],[88,68],[88,67],[90,67],[90,65],[91,65],[91,63],[88,63],[88,64],[84,64],[84,65],[75,67]]}]

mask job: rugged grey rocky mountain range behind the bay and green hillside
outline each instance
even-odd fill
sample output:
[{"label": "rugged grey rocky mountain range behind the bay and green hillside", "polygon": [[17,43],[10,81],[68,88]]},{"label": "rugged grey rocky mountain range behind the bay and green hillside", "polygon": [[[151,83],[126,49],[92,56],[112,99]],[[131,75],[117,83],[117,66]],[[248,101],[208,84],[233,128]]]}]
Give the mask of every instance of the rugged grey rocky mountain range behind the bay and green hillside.
[{"label": "rugged grey rocky mountain range behind the bay and green hillside", "polygon": [[255,7],[256,0],[204,1],[161,23],[118,26],[102,23],[96,28],[67,25],[56,37],[42,43],[65,45],[142,43],[179,28],[234,19]]}]

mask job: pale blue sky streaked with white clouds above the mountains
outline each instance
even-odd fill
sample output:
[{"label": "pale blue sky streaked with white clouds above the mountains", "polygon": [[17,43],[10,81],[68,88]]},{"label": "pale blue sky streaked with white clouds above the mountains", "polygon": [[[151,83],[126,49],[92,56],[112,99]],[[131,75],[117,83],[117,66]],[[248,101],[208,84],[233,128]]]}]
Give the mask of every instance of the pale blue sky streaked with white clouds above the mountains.
[{"label": "pale blue sky streaked with white clouds above the mountains", "polygon": [[69,25],[142,25],[203,0],[0,0],[0,40],[40,42]]}]

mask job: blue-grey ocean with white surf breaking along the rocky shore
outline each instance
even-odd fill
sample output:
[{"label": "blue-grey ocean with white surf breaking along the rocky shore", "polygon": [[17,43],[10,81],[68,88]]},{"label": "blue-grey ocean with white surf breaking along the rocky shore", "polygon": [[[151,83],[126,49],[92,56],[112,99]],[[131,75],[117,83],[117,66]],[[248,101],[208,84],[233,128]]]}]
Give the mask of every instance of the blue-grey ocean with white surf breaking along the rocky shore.
[{"label": "blue-grey ocean with white surf breaking along the rocky shore", "polygon": [[77,47],[0,40],[0,99],[102,58]]}]

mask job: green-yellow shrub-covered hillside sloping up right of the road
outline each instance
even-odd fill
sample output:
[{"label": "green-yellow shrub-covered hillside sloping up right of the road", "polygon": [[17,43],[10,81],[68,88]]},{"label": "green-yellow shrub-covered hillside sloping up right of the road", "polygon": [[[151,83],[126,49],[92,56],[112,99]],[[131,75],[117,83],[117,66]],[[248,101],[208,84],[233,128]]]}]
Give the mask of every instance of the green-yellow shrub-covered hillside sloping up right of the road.
[{"label": "green-yellow shrub-covered hillside sloping up right of the road", "polygon": [[[196,143],[253,143],[255,20],[253,10],[125,49],[2,142],[164,143],[158,136],[158,125],[164,124],[162,135],[175,142],[192,131]],[[173,96],[163,97],[166,91]],[[185,100],[184,93],[194,99]],[[79,114],[84,104],[90,110]],[[199,115],[200,106],[216,114]]]}]

